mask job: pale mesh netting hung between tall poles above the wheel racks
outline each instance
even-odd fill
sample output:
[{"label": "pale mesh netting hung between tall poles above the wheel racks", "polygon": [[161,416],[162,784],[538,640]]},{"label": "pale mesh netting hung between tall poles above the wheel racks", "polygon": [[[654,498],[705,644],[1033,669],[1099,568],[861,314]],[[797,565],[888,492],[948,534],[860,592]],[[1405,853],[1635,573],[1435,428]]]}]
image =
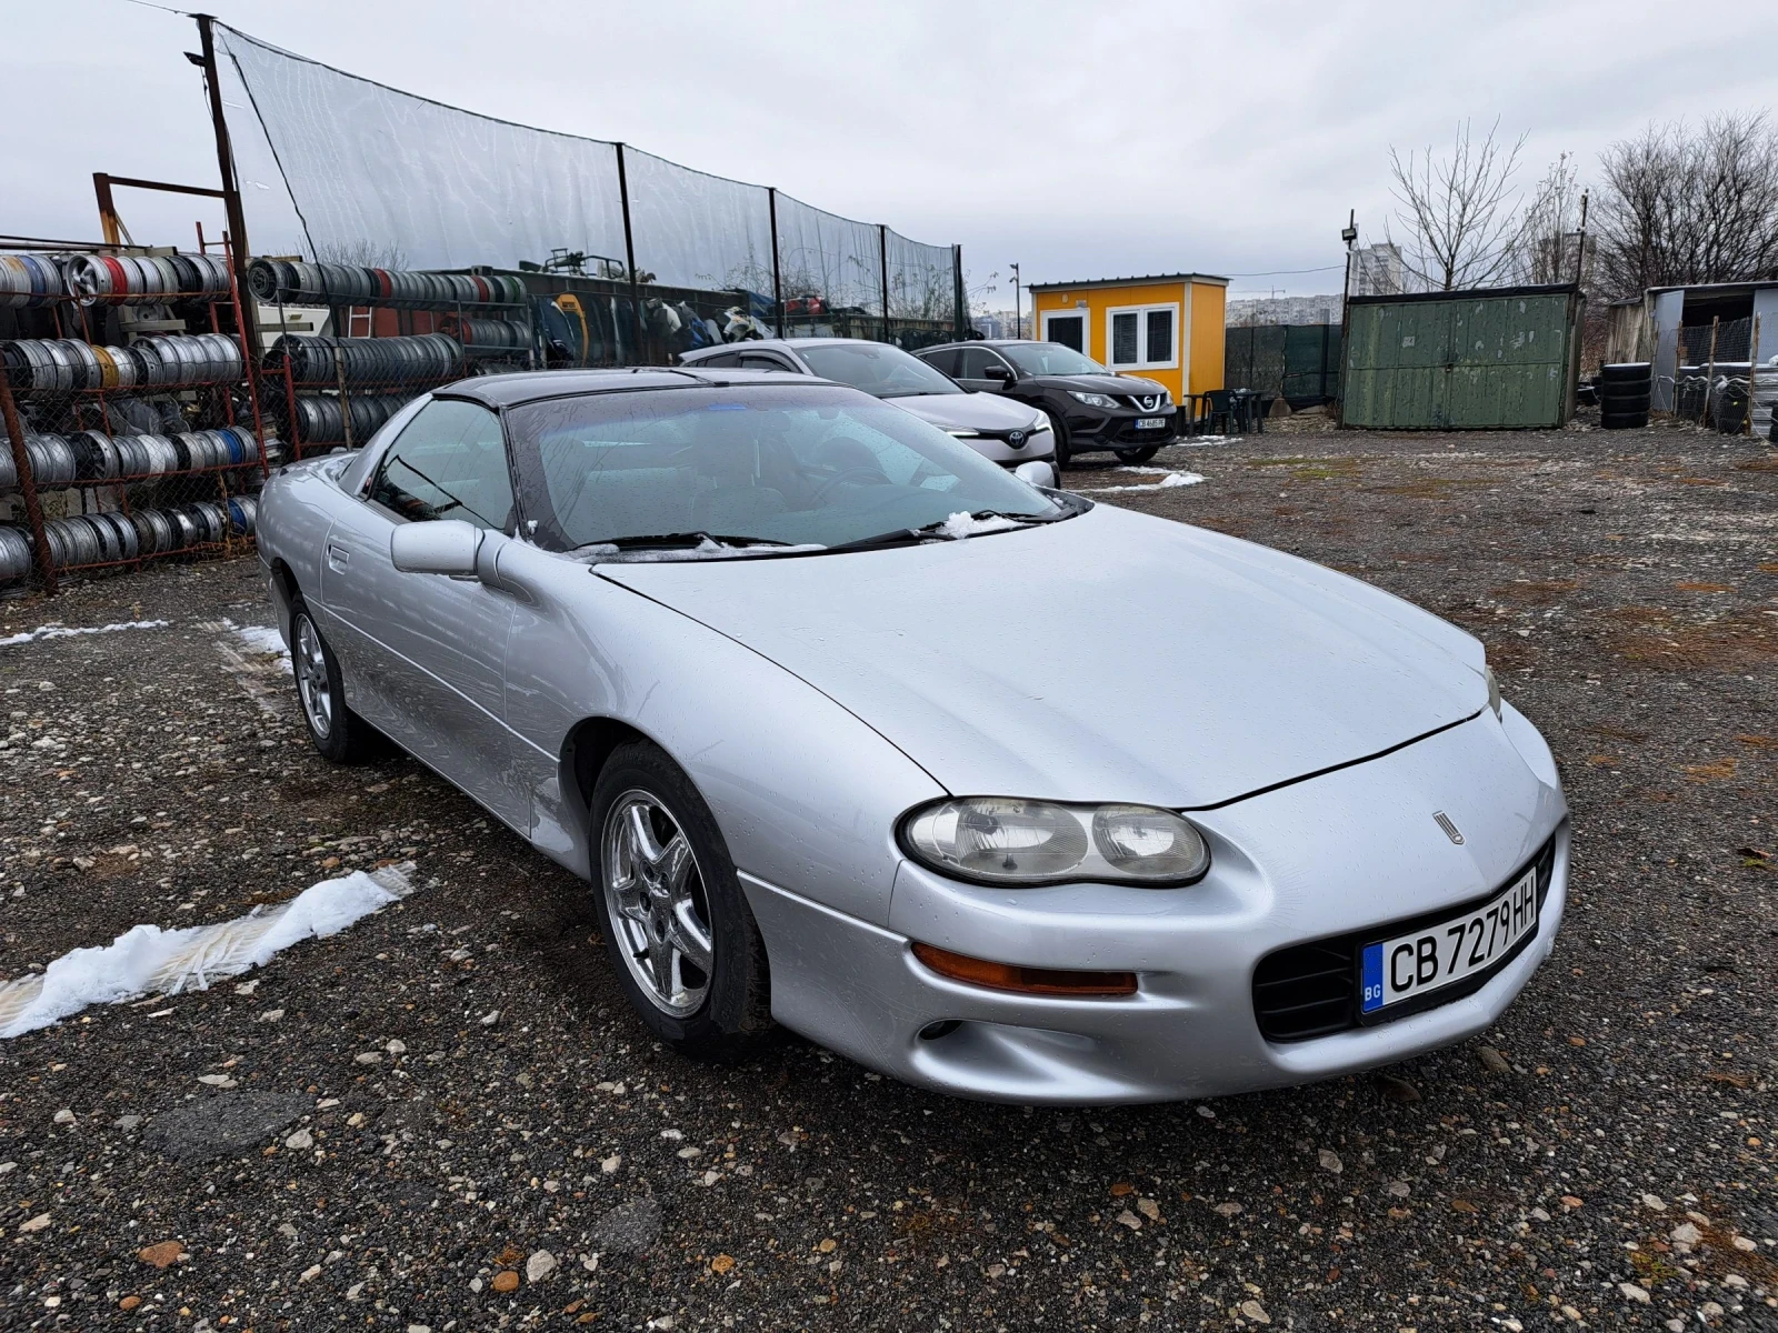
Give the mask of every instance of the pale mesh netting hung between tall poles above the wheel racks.
[{"label": "pale mesh netting hung between tall poles above the wheel racks", "polygon": [[[617,146],[446,107],[215,25],[219,76],[258,254],[391,268],[516,268],[555,251],[621,263]],[[955,315],[955,256],[868,222],[624,149],[637,268],[656,283],[786,306]],[[887,249],[887,265],[885,265]],[[887,302],[884,270],[887,267]]]}]

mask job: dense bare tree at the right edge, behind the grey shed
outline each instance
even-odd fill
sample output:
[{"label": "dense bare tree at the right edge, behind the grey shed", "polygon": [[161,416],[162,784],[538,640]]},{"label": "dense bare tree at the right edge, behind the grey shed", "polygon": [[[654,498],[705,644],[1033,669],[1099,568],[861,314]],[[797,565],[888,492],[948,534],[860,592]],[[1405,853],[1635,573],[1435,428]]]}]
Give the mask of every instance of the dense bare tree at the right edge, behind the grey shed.
[{"label": "dense bare tree at the right edge, behind the grey shed", "polygon": [[1764,112],[1650,124],[1600,156],[1598,267],[1614,297],[1778,275],[1778,128]]}]

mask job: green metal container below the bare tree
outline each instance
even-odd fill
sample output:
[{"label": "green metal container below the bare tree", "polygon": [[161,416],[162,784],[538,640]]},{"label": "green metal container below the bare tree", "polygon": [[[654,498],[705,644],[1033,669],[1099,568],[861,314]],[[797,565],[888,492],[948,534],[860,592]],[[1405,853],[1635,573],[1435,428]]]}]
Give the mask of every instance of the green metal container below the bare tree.
[{"label": "green metal container below the bare tree", "polygon": [[1574,416],[1574,284],[1353,297],[1341,423],[1373,430],[1534,430]]}]

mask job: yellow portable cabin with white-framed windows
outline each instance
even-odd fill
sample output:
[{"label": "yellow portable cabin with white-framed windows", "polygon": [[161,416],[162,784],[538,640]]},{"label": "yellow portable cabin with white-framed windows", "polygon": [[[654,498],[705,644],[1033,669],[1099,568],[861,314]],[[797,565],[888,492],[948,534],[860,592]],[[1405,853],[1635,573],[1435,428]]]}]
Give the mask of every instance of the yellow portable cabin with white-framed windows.
[{"label": "yellow portable cabin with white-framed windows", "polygon": [[1207,274],[1033,283],[1031,329],[1182,402],[1223,387],[1227,293],[1229,279]]}]

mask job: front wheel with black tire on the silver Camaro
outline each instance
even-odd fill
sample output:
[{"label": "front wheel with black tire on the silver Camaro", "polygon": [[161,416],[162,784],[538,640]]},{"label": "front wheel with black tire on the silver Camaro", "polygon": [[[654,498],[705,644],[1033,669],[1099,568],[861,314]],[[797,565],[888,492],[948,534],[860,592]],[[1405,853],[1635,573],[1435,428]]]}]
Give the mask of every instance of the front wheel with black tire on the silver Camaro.
[{"label": "front wheel with black tire on the silver Camaro", "polygon": [[589,842],[617,979],[656,1036],[740,1054],[772,1027],[765,940],[692,778],[658,746],[619,746],[592,789]]}]

